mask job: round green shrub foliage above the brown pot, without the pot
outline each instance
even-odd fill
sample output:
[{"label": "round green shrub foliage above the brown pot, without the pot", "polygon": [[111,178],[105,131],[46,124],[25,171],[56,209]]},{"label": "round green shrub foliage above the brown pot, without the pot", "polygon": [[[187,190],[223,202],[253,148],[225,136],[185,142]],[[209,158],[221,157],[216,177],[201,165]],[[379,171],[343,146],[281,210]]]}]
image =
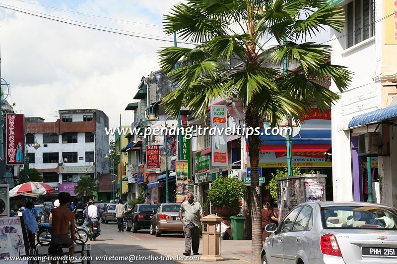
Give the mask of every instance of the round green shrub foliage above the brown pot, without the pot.
[{"label": "round green shrub foliage above the brown pot, without the pot", "polygon": [[237,178],[219,177],[208,190],[208,200],[213,206],[238,206],[244,192],[245,184]]}]

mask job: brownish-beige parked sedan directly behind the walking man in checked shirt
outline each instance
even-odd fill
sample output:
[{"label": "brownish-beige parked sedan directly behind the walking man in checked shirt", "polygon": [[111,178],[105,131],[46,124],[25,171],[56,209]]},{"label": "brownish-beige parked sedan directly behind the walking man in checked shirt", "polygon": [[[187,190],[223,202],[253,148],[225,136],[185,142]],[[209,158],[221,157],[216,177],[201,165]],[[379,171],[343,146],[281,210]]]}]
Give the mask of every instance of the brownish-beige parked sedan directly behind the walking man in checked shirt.
[{"label": "brownish-beige parked sedan directly behind the walking man in checked shirt", "polygon": [[178,203],[161,204],[152,217],[150,234],[157,237],[164,233],[183,234],[183,223],[179,218],[180,208],[181,204]]}]

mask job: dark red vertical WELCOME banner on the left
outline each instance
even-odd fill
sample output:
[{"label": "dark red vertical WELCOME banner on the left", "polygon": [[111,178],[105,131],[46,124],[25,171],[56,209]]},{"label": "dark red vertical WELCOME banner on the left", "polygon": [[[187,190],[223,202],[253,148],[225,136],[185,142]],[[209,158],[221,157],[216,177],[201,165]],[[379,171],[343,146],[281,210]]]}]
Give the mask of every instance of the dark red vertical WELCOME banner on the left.
[{"label": "dark red vertical WELCOME banner on the left", "polygon": [[25,154],[25,119],[23,114],[5,114],[7,164],[23,164]]}]

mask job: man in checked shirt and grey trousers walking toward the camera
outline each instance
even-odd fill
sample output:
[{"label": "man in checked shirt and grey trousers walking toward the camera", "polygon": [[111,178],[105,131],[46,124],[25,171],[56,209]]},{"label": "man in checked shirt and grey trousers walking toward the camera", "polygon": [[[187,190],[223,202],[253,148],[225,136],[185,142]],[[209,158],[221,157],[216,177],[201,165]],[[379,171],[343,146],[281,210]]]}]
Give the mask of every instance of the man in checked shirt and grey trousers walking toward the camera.
[{"label": "man in checked shirt and grey trousers walking toward the camera", "polygon": [[[185,217],[182,218],[182,213]],[[183,223],[183,231],[185,233],[185,252],[183,255],[190,256],[191,249],[193,255],[199,255],[200,245],[200,218],[204,217],[199,202],[194,201],[193,193],[188,193],[188,201],[181,204],[179,210],[179,218]]]}]

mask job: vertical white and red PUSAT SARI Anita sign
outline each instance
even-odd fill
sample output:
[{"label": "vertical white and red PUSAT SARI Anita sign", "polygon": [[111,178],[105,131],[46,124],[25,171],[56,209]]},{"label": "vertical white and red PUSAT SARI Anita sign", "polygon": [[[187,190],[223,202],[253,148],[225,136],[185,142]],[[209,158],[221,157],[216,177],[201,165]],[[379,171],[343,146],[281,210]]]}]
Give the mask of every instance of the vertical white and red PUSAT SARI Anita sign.
[{"label": "vertical white and red PUSAT SARI Anita sign", "polygon": [[226,119],[226,106],[211,106],[212,166],[227,166],[227,136],[224,135],[227,128]]}]

